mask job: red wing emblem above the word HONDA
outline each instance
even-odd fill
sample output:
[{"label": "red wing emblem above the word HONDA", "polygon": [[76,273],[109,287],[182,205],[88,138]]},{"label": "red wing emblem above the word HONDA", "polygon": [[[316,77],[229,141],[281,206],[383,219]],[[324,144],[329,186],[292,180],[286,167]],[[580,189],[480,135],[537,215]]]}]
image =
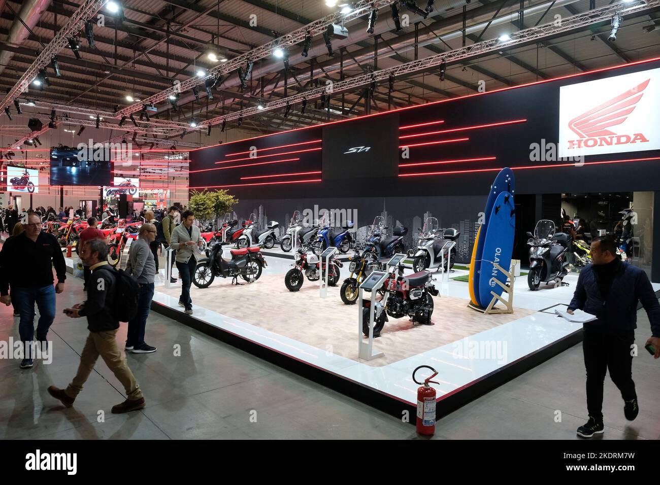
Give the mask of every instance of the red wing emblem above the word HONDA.
[{"label": "red wing emblem above the word HONDA", "polygon": [[580,138],[610,137],[616,135],[609,127],[620,125],[635,110],[651,79],[619,94],[615,98],[596,106],[592,110],[574,117],[568,127]]}]

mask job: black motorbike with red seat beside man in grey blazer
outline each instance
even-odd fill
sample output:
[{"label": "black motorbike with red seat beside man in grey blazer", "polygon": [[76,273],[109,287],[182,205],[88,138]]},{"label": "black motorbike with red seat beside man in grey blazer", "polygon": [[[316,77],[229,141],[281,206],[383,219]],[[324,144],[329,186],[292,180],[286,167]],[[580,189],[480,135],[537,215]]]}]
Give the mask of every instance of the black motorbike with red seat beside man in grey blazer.
[{"label": "black motorbike with red seat beside man in grey blazer", "polygon": [[222,242],[216,243],[212,249],[205,251],[207,257],[197,261],[193,276],[197,288],[208,288],[216,276],[232,278],[232,284],[239,284],[239,276],[248,283],[259,279],[263,267],[267,266],[259,247],[232,249],[232,259],[226,260],[222,257],[222,245]]}]

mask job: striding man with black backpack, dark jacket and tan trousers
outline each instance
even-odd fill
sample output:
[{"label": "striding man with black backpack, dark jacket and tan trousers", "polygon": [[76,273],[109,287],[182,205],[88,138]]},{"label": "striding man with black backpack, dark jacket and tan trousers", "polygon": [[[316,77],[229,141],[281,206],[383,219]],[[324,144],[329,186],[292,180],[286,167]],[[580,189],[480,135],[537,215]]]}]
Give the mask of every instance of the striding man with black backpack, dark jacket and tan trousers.
[{"label": "striding man with black backpack, dark jacket and tan trousers", "polygon": [[104,360],[108,368],[123,385],[126,391],[126,401],[112,406],[112,412],[129,412],[145,407],[145,398],[140,386],[137,385],[133,373],[126,364],[126,358],[119,351],[116,336],[119,321],[112,315],[117,273],[108,265],[108,246],[105,241],[94,239],[86,242],[80,255],[82,264],[90,267],[92,276],[87,288],[87,300],[75,304],[64,312],[71,318],[87,317],[89,335],[81,354],[78,373],[67,389],[58,389],[54,385],[48,387],[48,393],[59,399],[67,408],[73,406],[77,395],[82,391],[82,385],[89,377],[98,356]]}]

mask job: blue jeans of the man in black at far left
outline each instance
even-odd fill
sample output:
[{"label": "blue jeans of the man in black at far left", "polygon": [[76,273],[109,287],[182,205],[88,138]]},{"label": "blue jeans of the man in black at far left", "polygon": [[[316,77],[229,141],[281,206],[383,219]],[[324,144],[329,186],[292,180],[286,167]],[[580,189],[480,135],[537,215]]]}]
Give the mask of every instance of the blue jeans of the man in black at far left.
[{"label": "blue jeans of the man in black at far left", "polygon": [[[23,344],[34,340],[34,304],[39,308],[37,340],[46,340],[48,329],[55,319],[55,286],[41,288],[11,288],[11,301],[20,313],[18,333]],[[27,348],[27,347],[25,347]],[[27,357],[27,356],[26,356]]]}]

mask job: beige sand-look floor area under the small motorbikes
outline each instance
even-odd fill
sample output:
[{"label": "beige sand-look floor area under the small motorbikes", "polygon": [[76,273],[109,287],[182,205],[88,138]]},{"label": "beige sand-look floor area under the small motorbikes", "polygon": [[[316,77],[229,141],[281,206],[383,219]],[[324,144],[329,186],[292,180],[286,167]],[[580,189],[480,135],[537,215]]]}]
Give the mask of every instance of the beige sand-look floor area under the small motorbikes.
[{"label": "beige sand-look floor area under the small motorbikes", "polygon": [[[209,288],[193,285],[193,304],[375,367],[534,313],[516,308],[512,315],[482,315],[467,307],[468,300],[436,296],[432,316],[435,325],[413,326],[408,318],[390,317],[381,337],[374,340],[385,356],[365,361],[358,358],[358,307],[343,304],[339,288],[329,288],[329,298],[324,299],[319,298],[318,283],[308,280],[300,291],[289,292],[284,286],[284,275],[263,275],[253,284],[242,286],[230,283],[229,279],[216,278]],[[156,290],[170,296],[180,294],[180,288]]]}]

